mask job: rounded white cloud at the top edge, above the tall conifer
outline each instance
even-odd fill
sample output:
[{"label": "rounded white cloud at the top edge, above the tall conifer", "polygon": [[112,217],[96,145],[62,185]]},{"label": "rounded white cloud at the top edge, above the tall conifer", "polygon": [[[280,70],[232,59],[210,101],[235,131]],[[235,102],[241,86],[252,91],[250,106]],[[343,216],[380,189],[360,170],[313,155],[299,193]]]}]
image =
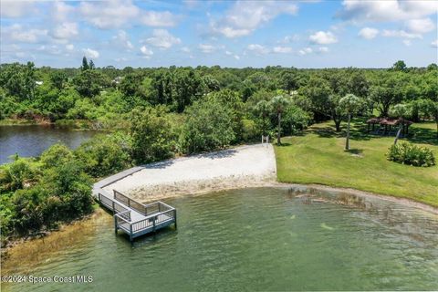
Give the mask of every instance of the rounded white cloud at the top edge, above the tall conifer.
[{"label": "rounded white cloud at the top edge, above the tall conifer", "polygon": [[130,0],[81,2],[80,14],[94,26],[102,29],[124,26],[139,16],[140,9]]}]

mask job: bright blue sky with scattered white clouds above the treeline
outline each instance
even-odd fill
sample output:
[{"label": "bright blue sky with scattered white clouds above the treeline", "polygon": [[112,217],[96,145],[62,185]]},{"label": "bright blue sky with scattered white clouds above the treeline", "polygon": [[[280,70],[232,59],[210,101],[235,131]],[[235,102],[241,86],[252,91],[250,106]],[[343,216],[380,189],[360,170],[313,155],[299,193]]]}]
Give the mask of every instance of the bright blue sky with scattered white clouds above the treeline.
[{"label": "bright blue sky with scattered white clouds above the treeline", "polygon": [[437,62],[438,1],[1,0],[1,62],[388,68]]}]

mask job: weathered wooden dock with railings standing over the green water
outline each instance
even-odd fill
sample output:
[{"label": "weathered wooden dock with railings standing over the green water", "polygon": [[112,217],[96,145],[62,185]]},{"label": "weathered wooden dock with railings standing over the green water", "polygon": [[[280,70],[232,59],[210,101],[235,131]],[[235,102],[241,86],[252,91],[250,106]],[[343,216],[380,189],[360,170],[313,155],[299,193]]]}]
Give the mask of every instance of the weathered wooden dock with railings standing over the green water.
[{"label": "weathered wooden dock with railings standing over the green water", "polygon": [[166,203],[139,203],[116,190],[111,195],[99,189],[96,197],[113,212],[116,234],[121,230],[130,235],[130,241],[171,224],[176,228],[176,209]]}]

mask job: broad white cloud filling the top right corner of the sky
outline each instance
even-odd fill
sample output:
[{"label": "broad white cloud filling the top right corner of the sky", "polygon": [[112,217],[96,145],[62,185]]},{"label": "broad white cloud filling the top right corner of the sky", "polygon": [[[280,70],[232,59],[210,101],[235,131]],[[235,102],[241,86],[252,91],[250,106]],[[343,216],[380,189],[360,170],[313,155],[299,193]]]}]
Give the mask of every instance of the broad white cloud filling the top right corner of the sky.
[{"label": "broad white cloud filling the top right corner of the sky", "polygon": [[338,16],[354,22],[387,22],[436,14],[438,1],[430,0],[344,0]]}]

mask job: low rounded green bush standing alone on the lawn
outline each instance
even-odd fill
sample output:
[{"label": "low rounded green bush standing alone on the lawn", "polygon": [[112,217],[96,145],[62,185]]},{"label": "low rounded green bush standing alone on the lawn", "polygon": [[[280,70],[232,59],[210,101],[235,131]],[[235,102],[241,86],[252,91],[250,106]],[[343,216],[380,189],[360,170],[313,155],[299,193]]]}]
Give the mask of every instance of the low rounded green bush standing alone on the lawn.
[{"label": "low rounded green bush standing alone on the lawn", "polygon": [[433,151],[426,147],[416,146],[408,142],[392,145],[386,155],[391,162],[422,167],[435,165]]}]

